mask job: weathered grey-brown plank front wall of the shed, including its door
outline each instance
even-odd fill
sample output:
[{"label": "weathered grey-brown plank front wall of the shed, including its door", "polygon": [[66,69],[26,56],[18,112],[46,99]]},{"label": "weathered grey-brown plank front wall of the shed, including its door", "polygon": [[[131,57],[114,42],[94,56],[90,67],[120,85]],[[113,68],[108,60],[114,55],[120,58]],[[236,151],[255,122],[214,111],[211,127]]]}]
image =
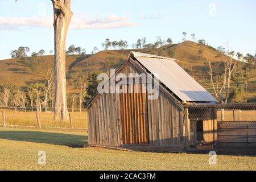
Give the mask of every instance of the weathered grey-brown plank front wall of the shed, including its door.
[{"label": "weathered grey-brown plank front wall of the shed, including its door", "polygon": [[[138,65],[137,65],[138,66]],[[143,73],[134,63],[119,73]],[[183,146],[183,110],[173,96],[159,88],[158,100],[147,100],[146,84],[123,85],[140,90],[133,94],[98,94],[88,108],[89,144],[122,146],[146,144],[156,147]]]}]

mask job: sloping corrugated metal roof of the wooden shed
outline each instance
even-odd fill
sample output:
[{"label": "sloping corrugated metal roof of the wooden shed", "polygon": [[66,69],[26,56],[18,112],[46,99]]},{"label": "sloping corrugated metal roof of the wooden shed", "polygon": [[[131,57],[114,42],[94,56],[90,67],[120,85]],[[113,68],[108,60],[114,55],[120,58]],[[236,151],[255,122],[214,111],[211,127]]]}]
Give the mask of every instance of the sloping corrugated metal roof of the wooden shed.
[{"label": "sloping corrugated metal roof of the wooden shed", "polygon": [[148,55],[139,52],[131,54],[182,101],[216,102],[216,99],[184,71],[175,59]]}]

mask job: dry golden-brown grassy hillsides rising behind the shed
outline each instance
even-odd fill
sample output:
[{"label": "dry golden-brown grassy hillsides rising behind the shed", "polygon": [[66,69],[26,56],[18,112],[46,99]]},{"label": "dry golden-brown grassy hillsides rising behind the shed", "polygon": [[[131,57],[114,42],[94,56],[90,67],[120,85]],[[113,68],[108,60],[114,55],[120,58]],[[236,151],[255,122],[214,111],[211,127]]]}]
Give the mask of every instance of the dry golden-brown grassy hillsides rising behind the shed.
[{"label": "dry golden-brown grassy hillsides rising behind the shed", "polygon": [[[169,44],[161,48],[151,49],[127,49],[100,51],[95,55],[67,55],[67,72],[107,72],[108,68],[118,68],[125,61],[130,51],[150,53],[166,57],[173,57],[179,61],[182,68],[192,77],[200,82],[210,93],[213,93],[212,85],[208,78],[207,63],[208,56],[212,62],[221,61],[216,57],[216,49],[195,42],[183,42],[180,44]],[[53,68],[53,55],[38,57],[38,64],[32,70],[24,60],[9,59],[0,60],[0,83],[13,83],[18,86],[26,86],[30,82],[43,81],[40,73],[46,72],[47,68]],[[243,64],[243,63],[240,63]],[[235,83],[233,83],[235,84]],[[71,88],[69,88],[71,89]],[[246,93],[247,99],[256,98],[256,73],[253,73]]]}]

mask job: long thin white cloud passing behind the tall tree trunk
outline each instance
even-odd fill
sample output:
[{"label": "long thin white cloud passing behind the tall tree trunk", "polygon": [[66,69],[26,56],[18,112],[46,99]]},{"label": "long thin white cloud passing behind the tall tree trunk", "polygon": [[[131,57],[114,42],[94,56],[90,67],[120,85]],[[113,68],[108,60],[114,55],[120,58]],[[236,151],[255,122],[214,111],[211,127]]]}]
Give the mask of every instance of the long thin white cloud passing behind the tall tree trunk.
[{"label": "long thin white cloud passing behind the tall tree trunk", "polygon": [[[138,26],[135,22],[129,22],[126,17],[108,15],[105,18],[80,18],[74,14],[70,28],[81,29],[106,29]],[[53,18],[0,18],[0,30],[19,30],[22,27],[53,28]]]}]

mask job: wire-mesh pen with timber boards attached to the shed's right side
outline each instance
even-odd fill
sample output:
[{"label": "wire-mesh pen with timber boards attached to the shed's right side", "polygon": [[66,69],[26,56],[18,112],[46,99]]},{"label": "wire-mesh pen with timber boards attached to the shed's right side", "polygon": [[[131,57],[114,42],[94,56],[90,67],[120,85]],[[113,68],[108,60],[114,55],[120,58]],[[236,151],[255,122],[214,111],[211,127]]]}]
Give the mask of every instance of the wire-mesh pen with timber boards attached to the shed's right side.
[{"label": "wire-mesh pen with timber boards attached to the shed's right side", "polygon": [[255,147],[256,103],[185,105],[191,148]]}]

